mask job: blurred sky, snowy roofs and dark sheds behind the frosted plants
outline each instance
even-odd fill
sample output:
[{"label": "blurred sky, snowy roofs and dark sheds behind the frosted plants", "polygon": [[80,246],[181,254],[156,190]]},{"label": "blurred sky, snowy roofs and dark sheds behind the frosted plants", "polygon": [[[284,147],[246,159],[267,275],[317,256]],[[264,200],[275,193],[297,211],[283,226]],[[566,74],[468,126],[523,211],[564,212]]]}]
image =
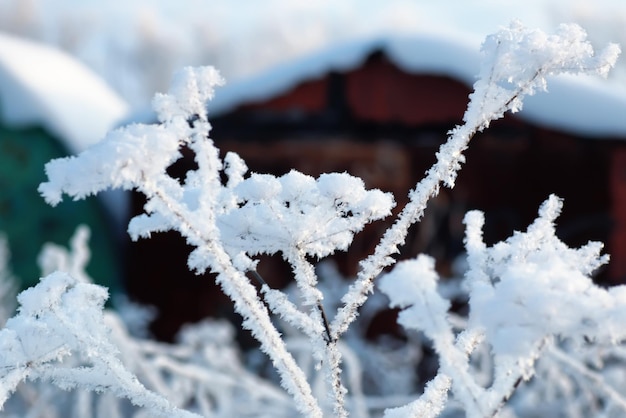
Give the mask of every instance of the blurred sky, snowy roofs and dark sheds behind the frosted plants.
[{"label": "blurred sky, snowy roofs and dark sheds behind the frosted plants", "polygon": [[[254,171],[349,171],[401,206],[461,121],[481,42],[513,19],[548,32],[576,22],[596,47],[626,45],[623,0],[0,0],[0,230],[16,275],[35,283],[41,245],[66,244],[86,223],[92,276],[158,306],[159,338],[229,315],[211,280],[186,272],[188,249],[175,234],[128,242],[124,220],[141,211],[140,196],[50,208],[36,193],[43,164],[122,122],[154,122],[151,97],[167,91],[173,72],[213,65],[227,80],[209,106],[223,151],[239,152]],[[557,84],[528,113],[494,124],[401,256],[428,252],[444,276],[458,275],[466,210],[486,212],[493,243],[525,228],[554,192],[565,198],[563,239],[604,241],[613,262],[598,281],[626,282],[625,92],[621,57],[607,82]],[[192,158],[172,173],[182,176]],[[335,257],[343,276],[355,274],[386,225]],[[280,260],[259,269],[285,285]]]}]

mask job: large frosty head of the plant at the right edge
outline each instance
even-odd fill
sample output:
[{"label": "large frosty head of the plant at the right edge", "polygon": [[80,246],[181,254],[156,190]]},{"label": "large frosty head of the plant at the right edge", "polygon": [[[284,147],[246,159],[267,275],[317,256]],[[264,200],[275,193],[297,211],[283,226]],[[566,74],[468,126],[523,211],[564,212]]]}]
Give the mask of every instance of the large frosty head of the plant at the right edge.
[{"label": "large frosty head of the plant at the right edge", "polygon": [[551,195],[526,232],[490,248],[480,238],[484,218],[474,212],[465,218],[469,321],[485,329],[496,354],[521,355],[550,334],[580,341],[623,338],[617,335],[623,329],[604,324],[621,315],[624,287],[594,285],[590,275],[609,257],[601,255],[599,242],[572,249],[556,237],[554,221],[561,208],[562,201]]}]

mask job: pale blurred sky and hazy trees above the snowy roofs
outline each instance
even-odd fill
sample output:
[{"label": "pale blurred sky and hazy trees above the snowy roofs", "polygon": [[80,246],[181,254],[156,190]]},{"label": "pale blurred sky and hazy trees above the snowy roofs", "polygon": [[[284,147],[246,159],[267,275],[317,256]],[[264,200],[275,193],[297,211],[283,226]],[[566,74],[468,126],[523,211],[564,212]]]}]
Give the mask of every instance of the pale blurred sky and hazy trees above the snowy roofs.
[{"label": "pale blurred sky and hazy trees above the snowy roofs", "polygon": [[[173,71],[211,64],[229,82],[341,40],[372,34],[462,37],[476,47],[512,19],[550,30],[584,26],[596,44],[623,42],[621,0],[0,0],[0,30],[58,47],[103,77],[133,108]],[[624,80],[626,66],[613,78]]]}]

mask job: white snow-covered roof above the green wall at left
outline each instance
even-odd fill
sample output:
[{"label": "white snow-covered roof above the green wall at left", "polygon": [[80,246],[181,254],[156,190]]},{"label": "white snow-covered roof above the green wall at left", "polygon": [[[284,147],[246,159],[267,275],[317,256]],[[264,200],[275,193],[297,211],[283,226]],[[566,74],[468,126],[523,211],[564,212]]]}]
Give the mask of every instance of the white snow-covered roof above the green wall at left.
[{"label": "white snow-covered roof above the green wall at left", "polygon": [[0,33],[0,122],[39,125],[76,153],[97,142],[128,105],[65,53]]}]

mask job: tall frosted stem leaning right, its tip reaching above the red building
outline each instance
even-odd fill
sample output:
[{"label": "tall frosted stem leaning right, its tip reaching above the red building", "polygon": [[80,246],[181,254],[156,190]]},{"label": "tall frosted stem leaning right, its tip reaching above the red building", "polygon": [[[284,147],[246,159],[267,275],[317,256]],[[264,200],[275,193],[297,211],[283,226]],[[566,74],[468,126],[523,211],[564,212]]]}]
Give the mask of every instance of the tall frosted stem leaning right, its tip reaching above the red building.
[{"label": "tall frosted stem leaning right, its tip reaching above the red building", "polygon": [[363,260],[356,283],[345,296],[345,306],[332,323],[333,338],[344,333],[356,318],[357,310],[372,291],[373,281],[382,269],[393,264],[411,225],[419,221],[426,205],[443,184],[453,187],[463,151],[471,138],[502,118],[506,111],[522,108],[524,96],[546,90],[546,77],[563,73],[606,76],[615,64],[619,47],[611,44],[595,55],[584,30],[576,25],[561,25],[554,35],[531,30],[514,22],[507,29],[488,36],[483,43],[483,60],[474,92],[470,95],[463,124],[450,131],[448,140],[437,152],[437,162],[426,177],[409,193],[409,203],[389,228],[374,254]]}]

